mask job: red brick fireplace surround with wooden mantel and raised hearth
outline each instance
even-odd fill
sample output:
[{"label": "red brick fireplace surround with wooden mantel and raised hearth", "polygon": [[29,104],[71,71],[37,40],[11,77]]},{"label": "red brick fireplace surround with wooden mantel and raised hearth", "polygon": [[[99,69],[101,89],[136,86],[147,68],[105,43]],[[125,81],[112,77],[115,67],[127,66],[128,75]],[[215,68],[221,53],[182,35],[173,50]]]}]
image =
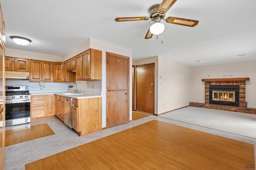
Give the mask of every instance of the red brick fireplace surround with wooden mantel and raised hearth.
[{"label": "red brick fireplace surround with wooden mantel and raised hearth", "polygon": [[[218,109],[225,111],[236,111],[240,113],[256,114],[256,108],[246,107],[245,100],[245,81],[249,78],[215,78],[215,79],[202,79],[205,82],[205,103],[190,102],[189,106],[202,107],[208,109]],[[239,85],[239,107],[209,104],[209,85]]]}]

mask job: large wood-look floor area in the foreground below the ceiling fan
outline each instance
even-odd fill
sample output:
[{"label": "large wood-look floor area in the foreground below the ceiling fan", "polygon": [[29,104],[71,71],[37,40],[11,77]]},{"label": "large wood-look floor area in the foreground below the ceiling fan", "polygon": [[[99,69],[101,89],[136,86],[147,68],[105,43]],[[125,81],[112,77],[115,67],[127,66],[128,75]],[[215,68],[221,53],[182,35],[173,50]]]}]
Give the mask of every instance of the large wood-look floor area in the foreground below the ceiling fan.
[{"label": "large wood-look floor area in the foreground below the ceiling fan", "polygon": [[195,169],[255,167],[254,145],[152,120],[25,165],[30,169]]}]

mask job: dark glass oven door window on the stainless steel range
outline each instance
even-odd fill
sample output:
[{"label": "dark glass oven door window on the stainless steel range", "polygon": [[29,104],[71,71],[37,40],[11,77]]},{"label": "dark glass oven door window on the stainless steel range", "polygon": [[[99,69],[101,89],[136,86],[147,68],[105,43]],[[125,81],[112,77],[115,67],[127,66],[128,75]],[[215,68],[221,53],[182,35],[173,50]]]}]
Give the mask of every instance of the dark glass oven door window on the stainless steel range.
[{"label": "dark glass oven door window on the stainless steel range", "polygon": [[30,117],[30,102],[6,104],[6,120]]}]

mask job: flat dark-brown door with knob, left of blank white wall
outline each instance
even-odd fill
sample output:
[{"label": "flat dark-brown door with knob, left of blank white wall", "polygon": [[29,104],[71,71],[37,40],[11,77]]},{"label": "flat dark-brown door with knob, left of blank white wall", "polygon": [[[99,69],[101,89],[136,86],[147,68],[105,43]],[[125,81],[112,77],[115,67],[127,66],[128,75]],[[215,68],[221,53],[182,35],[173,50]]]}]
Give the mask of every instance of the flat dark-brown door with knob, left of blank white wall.
[{"label": "flat dark-brown door with knob, left of blank white wall", "polygon": [[136,110],[154,114],[155,63],[136,66]]}]

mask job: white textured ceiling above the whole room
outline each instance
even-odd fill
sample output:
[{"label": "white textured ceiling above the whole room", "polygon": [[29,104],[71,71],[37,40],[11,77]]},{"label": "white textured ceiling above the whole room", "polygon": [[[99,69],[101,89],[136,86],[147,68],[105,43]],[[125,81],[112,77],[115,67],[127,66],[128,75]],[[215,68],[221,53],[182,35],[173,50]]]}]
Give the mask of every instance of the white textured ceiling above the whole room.
[{"label": "white textured ceiling above the whole room", "polygon": [[[177,0],[166,13],[199,20],[195,27],[165,25],[144,39],[153,22],[116,22],[116,17],[149,16],[162,0],[0,0],[6,48],[63,56],[88,38],[132,50],[133,60],[168,57],[189,66],[256,60],[255,0]],[[165,18],[166,18],[165,17]],[[32,40],[16,45],[10,36]],[[162,42],[163,38],[163,43]],[[237,55],[245,55],[237,57]],[[197,63],[196,61],[202,62]]]}]

